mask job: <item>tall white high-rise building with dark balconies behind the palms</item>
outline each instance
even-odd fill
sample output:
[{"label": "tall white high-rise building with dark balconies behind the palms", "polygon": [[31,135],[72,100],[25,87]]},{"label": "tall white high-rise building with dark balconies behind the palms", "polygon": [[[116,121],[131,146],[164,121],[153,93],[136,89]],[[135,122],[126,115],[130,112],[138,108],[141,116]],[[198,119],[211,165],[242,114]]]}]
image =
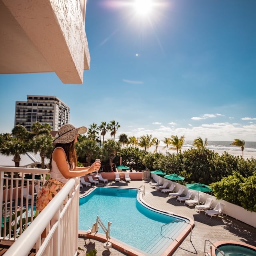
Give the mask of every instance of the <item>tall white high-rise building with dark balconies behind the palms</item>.
[{"label": "tall white high-rise building with dark balconies behind the palms", "polygon": [[27,101],[16,101],[15,125],[28,131],[35,122],[50,124],[57,131],[70,120],[70,108],[56,96],[27,95]]}]

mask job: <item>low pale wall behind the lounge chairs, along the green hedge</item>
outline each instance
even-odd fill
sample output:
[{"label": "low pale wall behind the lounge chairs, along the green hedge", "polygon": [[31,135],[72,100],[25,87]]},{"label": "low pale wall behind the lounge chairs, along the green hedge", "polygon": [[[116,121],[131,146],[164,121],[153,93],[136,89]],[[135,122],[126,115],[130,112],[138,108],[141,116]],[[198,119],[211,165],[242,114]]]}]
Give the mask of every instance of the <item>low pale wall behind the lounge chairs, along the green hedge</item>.
[{"label": "low pale wall behind the lounge chairs, along the green hedge", "polygon": [[[158,175],[152,174],[152,178],[154,180],[158,181]],[[159,178],[160,183],[161,182],[164,183],[165,181],[166,181],[165,178],[162,178],[162,177]],[[172,182],[173,181],[170,180],[169,183],[171,184]],[[179,188],[182,186],[185,188],[184,194],[186,194],[186,192],[188,191],[188,188],[186,186],[180,185],[176,182],[175,182],[175,184],[176,184],[175,191],[178,191]],[[196,193],[198,193],[198,191],[194,190],[192,198],[194,198]],[[208,197],[212,198],[213,199],[212,207],[216,206],[216,204],[218,202],[221,202],[225,205],[223,210],[228,216],[235,218],[237,220],[240,220],[240,221],[256,228],[256,212],[249,212],[249,211],[245,210],[244,208],[242,208],[241,206],[231,204],[224,200],[218,200],[218,199],[216,199],[216,197],[210,196],[209,194],[206,194],[204,192],[200,192],[200,194],[202,195],[200,201],[205,202]]]}]

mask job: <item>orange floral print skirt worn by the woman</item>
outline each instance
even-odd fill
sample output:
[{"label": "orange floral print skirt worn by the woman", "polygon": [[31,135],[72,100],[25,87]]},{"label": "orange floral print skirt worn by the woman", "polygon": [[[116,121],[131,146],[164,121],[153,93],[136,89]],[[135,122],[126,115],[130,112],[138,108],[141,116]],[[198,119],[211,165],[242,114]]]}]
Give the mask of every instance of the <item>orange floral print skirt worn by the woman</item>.
[{"label": "orange floral print skirt worn by the woman", "polygon": [[49,178],[37,193],[36,210],[42,211],[64,185],[64,182]]}]

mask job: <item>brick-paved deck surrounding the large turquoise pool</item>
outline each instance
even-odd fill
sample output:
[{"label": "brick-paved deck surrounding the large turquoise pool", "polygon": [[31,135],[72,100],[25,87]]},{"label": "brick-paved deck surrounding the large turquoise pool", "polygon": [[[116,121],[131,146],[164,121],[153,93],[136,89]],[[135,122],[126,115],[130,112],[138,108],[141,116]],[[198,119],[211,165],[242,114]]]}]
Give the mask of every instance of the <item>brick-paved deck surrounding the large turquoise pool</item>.
[{"label": "brick-paved deck surrounding the large turquoise pool", "polygon": [[[195,222],[195,226],[192,230],[191,242],[189,234],[173,252],[173,256],[203,256],[205,255],[205,240],[210,240],[212,243],[220,240],[233,240],[256,246],[256,228],[230,216],[215,216],[210,219],[210,216],[204,216],[204,212],[199,213],[194,210],[194,206],[190,206],[190,208],[188,208],[188,206],[184,205],[183,202],[180,203],[176,201],[176,198],[169,198],[168,193],[163,194],[160,191],[156,191],[154,188],[150,187],[150,180],[132,180],[131,182],[127,183],[124,181],[110,181],[105,186],[138,188],[141,185],[145,185],[145,195],[143,196],[143,200],[147,204],[159,210],[173,212],[174,214],[191,218]],[[90,190],[90,188],[86,188],[84,186],[80,189],[80,194],[82,195],[88,190]],[[106,250],[103,247],[103,242],[92,238],[90,238],[90,240],[88,238],[79,238],[78,240],[79,248],[84,250],[79,250],[80,256],[86,255],[85,252],[89,252],[93,248],[96,248],[98,251],[97,255],[99,256],[128,255],[114,248]],[[209,249],[210,243],[206,242],[206,251],[209,251]]]}]

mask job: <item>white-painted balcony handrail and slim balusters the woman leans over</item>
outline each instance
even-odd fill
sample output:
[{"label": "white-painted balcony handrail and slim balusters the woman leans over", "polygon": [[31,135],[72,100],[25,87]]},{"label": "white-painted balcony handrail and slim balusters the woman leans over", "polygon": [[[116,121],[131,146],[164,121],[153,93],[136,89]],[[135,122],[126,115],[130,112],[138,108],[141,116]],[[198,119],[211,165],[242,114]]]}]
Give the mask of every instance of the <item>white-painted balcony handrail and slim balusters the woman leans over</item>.
[{"label": "white-painted balcony handrail and slim balusters the woman leans over", "polygon": [[[18,196],[17,186],[12,185],[12,182],[21,181],[23,184],[23,180],[30,181],[32,183],[32,189],[34,189],[34,182],[38,182],[37,179],[24,179],[22,178],[13,178],[13,174],[11,178],[4,177],[4,172],[21,172],[21,173],[35,173],[35,174],[43,174],[43,180],[45,181],[45,174],[48,174],[47,169],[34,169],[34,168],[15,168],[15,167],[3,167],[0,166],[0,199],[4,199],[6,203],[6,194],[3,198],[4,192],[4,180],[6,180],[6,184],[11,184],[9,188],[6,187],[5,190],[10,190],[10,196],[12,198],[12,189],[16,189],[14,200],[17,202]],[[9,181],[9,182],[7,182]],[[24,185],[26,186],[26,185]],[[45,255],[48,252],[49,256],[69,256],[76,255],[78,250],[78,210],[79,210],[79,179],[71,178],[68,182],[63,186],[63,188],[54,196],[54,198],[50,201],[50,203],[44,208],[36,218],[32,218],[31,215],[31,223],[29,226],[26,225],[25,230],[19,232],[20,236],[17,238],[16,236],[11,237],[10,233],[2,238],[3,241],[12,241],[13,244],[8,248],[5,256],[9,255],[20,255],[25,256],[31,252],[31,249],[36,250],[36,255],[41,256]],[[22,192],[21,192],[22,193]],[[2,207],[2,200],[0,200],[0,206]],[[32,202],[33,203],[33,200]],[[22,204],[21,204],[22,205]],[[2,209],[2,208],[1,208]],[[28,203],[22,206],[22,209],[28,212]],[[15,212],[15,223],[17,223],[17,203],[15,203],[15,210],[10,208],[10,213]],[[4,212],[4,234],[6,230],[6,209]],[[2,216],[2,210],[0,211],[0,217]],[[22,217],[23,218],[23,217]],[[27,221],[24,216],[24,220]],[[10,222],[9,222],[10,227]],[[23,228],[22,228],[23,229]],[[21,228],[20,228],[21,230]],[[44,234],[44,230],[46,230],[46,237],[44,240],[41,240],[42,234]],[[69,232],[66,232],[69,230]],[[65,232],[65,235],[64,235]]]}]

